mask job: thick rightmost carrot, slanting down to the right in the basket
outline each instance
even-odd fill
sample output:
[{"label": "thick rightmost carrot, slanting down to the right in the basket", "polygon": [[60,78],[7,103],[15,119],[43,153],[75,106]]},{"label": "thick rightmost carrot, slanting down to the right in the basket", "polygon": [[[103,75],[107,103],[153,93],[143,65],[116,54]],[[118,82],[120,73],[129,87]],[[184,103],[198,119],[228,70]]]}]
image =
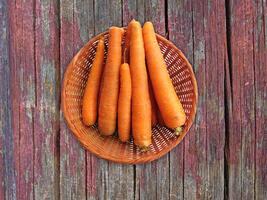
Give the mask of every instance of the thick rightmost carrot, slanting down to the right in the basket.
[{"label": "thick rightmost carrot, slanting down to the right in the basket", "polygon": [[160,113],[166,126],[179,131],[186,115],[168,74],[151,22],[144,24],[143,38],[148,71]]}]

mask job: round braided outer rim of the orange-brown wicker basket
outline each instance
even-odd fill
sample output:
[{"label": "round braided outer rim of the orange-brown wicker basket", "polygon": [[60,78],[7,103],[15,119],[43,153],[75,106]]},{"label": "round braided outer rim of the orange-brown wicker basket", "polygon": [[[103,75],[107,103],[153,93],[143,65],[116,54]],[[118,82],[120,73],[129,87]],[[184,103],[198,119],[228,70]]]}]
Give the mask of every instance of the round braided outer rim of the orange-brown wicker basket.
[{"label": "round braided outer rim of the orange-brown wicker basket", "polygon": [[[124,27],[124,29],[126,30],[125,27]],[[192,124],[194,123],[194,119],[195,119],[196,111],[197,111],[197,106],[198,106],[198,86],[197,86],[197,81],[196,81],[196,77],[195,77],[195,74],[194,74],[192,65],[189,63],[189,61],[187,60],[187,58],[185,57],[185,55],[183,54],[183,52],[180,49],[178,49],[170,40],[168,40],[165,37],[161,36],[160,34],[157,34],[156,33],[157,39],[161,40],[164,43],[168,43],[168,45],[172,49],[174,49],[181,56],[181,58],[183,59],[183,61],[188,66],[187,68],[189,69],[190,77],[191,77],[193,88],[194,88],[195,104],[192,106],[192,110],[190,112],[190,116],[189,116],[189,119],[188,119],[188,124],[186,126],[186,129],[184,129],[182,131],[182,134],[180,134],[178,136],[178,138],[175,140],[175,142],[173,142],[172,144],[166,146],[161,151],[159,151],[159,152],[157,152],[155,154],[151,154],[151,155],[146,156],[146,157],[140,157],[140,158],[135,158],[135,159],[118,159],[117,157],[113,157],[113,156],[110,156],[110,155],[107,156],[105,154],[101,154],[101,152],[97,151],[94,148],[90,148],[90,146],[88,146],[87,144],[85,144],[85,142],[83,140],[80,140],[79,132],[78,132],[78,130],[76,129],[75,125],[71,122],[71,120],[69,118],[69,113],[68,113],[66,102],[65,102],[65,99],[66,99],[65,98],[65,91],[66,91],[66,86],[67,86],[67,83],[68,83],[67,77],[69,77],[69,74],[72,72],[72,69],[75,66],[74,64],[77,61],[77,59],[79,58],[79,55],[85,50],[85,48],[87,46],[92,45],[94,42],[96,42],[97,40],[99,40],[100,37],[102,37],[102,36],[104,36],[106,34],[108,34],[108,31],[99,33],[95,37],[91,38],[75,54],[75,56],[72,58],[72,60],[70,61],[70,63],[68,64],[68,66],[65,69],[64,78],[63,78],[63,82],[62,82],[62,88],[61,88],[61,109],[63,111],[63,115],[64,115],[64,118],[65,118],[65,121],[67,122],[67,126],[71,130],[71,133],[82,144],[83,148],[85,148],[86,150],[88,150],[91,153],[95,154],[99,158],[106,159],[106,160],[109,160],[109,161],[112,161],[112,162],[115,162],[115,163],[122,163],[122,164],[141,164],[141,163],[148,163],[148,162],[157,160],[160,157],[162,157],[165,154],[167,154],[168,152],[170,152],[172,149],[174,149],[184,139],[184,137],[188,133],[189,129],[191,128]]]}]

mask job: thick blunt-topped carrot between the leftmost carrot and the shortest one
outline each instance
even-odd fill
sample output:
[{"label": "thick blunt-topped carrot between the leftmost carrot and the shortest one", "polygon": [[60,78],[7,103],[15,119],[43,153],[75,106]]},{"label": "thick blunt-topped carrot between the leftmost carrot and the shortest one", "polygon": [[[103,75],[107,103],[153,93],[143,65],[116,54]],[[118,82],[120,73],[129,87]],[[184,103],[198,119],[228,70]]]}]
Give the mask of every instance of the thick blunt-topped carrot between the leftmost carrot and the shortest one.
[{"label": "thick blunt-topped carrot between the leftmost carrot and the shortest one", "polygon": [[98,128],[103,135],[112,135],[116,129],[122,36],[123,29],[109,29],[108,55],[98,109]]}]

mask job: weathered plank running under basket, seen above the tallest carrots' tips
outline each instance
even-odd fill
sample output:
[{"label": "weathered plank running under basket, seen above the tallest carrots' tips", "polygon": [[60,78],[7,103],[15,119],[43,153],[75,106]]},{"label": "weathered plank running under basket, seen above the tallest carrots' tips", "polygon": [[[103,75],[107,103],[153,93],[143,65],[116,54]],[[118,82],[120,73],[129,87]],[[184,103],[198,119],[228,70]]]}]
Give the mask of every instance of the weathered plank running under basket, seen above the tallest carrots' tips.
[{"label": "weathered plank running under basket, seen above the tallest carrots' tips", "polygon": [[[152,21],[158,33],[165,35],[165,3],[159,1],[124,1],[123,24],[135,18],[142,24]],[[169,157],[136,166],[135,199],[169,198]]]}]

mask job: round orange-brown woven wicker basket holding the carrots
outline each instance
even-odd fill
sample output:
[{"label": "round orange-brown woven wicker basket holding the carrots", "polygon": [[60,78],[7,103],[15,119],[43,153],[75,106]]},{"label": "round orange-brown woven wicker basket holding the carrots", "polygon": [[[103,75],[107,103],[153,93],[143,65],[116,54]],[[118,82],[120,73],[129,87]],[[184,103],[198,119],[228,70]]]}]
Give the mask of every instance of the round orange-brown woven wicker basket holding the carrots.
[{"label": "round orange-brown woven wicker basket holding the carrots", "polygon": [[193,123],[197,105],[197,83],[192,67],[173,43],[157,35],[169,75],[186,113],[186,123],[179,136],[176,136],[174,131],[167,127],[157,124],[152,129],[152,144],[149,150],[142,152],[133,144],[132,139],[129,143],[122,143],[116,133],[114,136],[101,136],[97,125],[88,127],[82,122],[83,93],[101,36],[104,36],[105,44],[108,46],[108,32],[97,35],[75,55],[65,72],[62,87],[62,109],[67,124],[81,144],[101,158],[127,164],[155,160],[179,144]]}]

